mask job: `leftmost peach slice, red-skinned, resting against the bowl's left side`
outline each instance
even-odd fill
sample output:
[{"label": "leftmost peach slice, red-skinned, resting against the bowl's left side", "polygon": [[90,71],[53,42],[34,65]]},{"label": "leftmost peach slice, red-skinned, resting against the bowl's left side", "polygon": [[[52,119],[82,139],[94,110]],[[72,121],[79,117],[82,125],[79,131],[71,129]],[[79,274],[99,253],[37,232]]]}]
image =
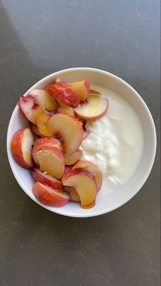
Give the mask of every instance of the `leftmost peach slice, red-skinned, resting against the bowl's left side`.
[{"label": "leftmost peach slice, red-skinned, resting against the bowl's left side", "polygon": [[32,168],[32,146],[34,136],[29,128],[16,131],[12,138],[11,150],[15,161],[23,168]]}]

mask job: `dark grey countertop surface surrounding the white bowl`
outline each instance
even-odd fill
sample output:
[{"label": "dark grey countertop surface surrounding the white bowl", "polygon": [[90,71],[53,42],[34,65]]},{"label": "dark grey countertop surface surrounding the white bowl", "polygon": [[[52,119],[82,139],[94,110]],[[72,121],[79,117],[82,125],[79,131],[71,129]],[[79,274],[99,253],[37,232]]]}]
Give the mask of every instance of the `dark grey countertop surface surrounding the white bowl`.
[{"label": "dark grey countertop surface surrounding the white bowl", "polygon": [[[0,285],[160,285],[160,161],[116,211],[66,218],[16,183],[5,149],[18,96],[49,73],[108,70],[149,106],[159,135],[159,0],[2,0],[0,14]],[[68,3],[68,4],[67,4]]]}]

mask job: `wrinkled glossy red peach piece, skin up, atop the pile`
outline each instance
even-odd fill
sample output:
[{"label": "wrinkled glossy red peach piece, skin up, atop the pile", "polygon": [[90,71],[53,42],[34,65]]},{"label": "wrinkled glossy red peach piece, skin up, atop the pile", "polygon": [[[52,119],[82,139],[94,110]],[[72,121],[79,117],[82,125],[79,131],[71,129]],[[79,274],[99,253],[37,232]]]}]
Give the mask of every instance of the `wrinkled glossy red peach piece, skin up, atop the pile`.
[{"label": "wrinkled glossy red peach piece, skin up, atop the pile", "polygon": [[46,90],[57,101],[70,105],[71,107],[77,107],[77,105],[79,105],[79,96],[74,88],[65,81],[58,81],[51,84],[47,86]]}]

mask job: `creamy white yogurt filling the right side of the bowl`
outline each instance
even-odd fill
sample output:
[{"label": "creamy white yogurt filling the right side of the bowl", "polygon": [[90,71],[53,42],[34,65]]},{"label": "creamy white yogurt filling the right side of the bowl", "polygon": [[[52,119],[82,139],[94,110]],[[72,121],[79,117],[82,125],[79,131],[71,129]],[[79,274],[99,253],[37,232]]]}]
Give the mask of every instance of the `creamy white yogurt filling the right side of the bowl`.
[{"label": "creamy white yogurt filling the right side of the bowl", "polygon": [[97,197],[105,197],[134,174],[143,154],[143,130],[138,115],[123,97],[111,90],[92,86],[108,98],[108,111],[86,124],[90,131],[81,144],[82,159],[95,163],[103,175]]}]

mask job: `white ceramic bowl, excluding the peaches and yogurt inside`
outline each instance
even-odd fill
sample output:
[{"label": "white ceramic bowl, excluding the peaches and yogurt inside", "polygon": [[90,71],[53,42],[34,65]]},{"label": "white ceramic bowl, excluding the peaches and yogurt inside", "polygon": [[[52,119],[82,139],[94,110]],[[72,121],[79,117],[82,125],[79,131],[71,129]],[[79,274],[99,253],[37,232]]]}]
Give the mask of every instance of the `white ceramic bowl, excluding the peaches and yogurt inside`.
[{"label": "white ceramic bowl, excluding the peaches and yogurt inside", "polygon": [[[114,92],[118,92],[121,94],[121,96],[127,99],[127,101],[129,101],[140,118],[144,133],[145,145],[143,150],[143,157],[140,165],[138,166],[138,169],[136,170],[134,176],[129,181],[127,181],[127,183],[125,183],[125,185],[123,185],[119,190],[116,190],[116,192],[110,194],[106,198],[98,198],[95,207],[92,207],[92,209],[82,209],[76,203],[67,203],[64,207],[60,208],[42,205],[32,194],[32,185],[34,183],[32,175],[28,170],[18,166],[12,157],[10,149],[12,135],[14,135],[18,129],[27,127],[28,125],[27,120],[21,114],[21,111],[18,109],[17,105],[14,108],[14,112],[12,113],[10,124],[8,126],[7,151],[10,166],[16,181],[18,181],[18,184],[22,187],[24,192],[36,203],[42,207],[45,207],[45,209],[49,209],[49,211],[53,211],[55,213],[60,213],[64,216],[73,216],[77,218],[99,216],[103,213],[108,213],[113,209],[117,209],[118,207],[121,207],[121,205],[127,203],[127,201],[130,200],[130,198],[132,198],[140,190],[140,188],[147,180],[156,155],[156,129],[153,123],[153,118],[151,117],[151,113],[149,112],[147,105],[136,92],[136,90],[134,90],[134,88],[129,86],[128,83],[119,77],[116,77],[115,75],[112,75],[111,73],[103,70],[97,70],[95,68],[69,68],[66,70],[60,70],[57,73],[53,73],[44,79],[41,79],[29,90],[33,90],[35,88],[43,89],[47,85],[53,83],[53,81],[58,77],[67,82],[89,79],[92,84],[102,86],[103,88],[109,88]],[[27,90],[25,94],[27,94],[29,90]]]}]

